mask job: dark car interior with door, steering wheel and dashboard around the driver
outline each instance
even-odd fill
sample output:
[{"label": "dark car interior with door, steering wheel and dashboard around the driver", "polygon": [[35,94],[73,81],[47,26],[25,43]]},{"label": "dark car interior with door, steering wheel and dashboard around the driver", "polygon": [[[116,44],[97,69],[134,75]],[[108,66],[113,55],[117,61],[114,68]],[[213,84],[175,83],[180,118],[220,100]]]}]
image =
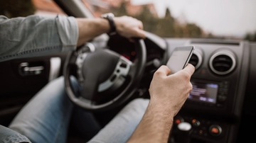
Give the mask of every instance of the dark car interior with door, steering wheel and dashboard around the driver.
[{"label": "dark car interior with door, steering wheel and dashboard around the driver", "polygon": [[[81,1],[55,0],[68,15],[92,18]],[[179,113],[169,135],[169,143],[239,143],[256,142],[256,42],[220,38],[164,38],[146,31],[146,39],[130,42],[120,35],[103,34],[78,47],[43,57],[11,59],[0,62],[0,125],[8,126],[19,110],[43,86],[65,76],[65,88],[71,101],[90,110],[102,126],[134,98],[150,98],[149,85],[154,71],[165,65],[176,47],[193,45],[189,61],[195,67],[191,77],[193,89]],[[93,54],[95,53],[95,54]],[[87,65],[85,57],[92,55]],[[93,56],[94,55],[94,56]],[[116,64],[98,57],[112,57]],[[96,60],[94,58],[98,58]],[[103,59],[104,60],[104,59]],[[106,64],[107,63],[107,64]],[[81,74],[92,65],[102,68],[100,85]],[[93,69],[93,68],[92,68]],[[79,101],[69,76],[85,84]],[[97,95],[88,97],[87,92]],[[95,101],[90,102],[94,98]],[[191,125],[183,130],[183,123]],[[86,142],[70,127],[68,142]]]}]

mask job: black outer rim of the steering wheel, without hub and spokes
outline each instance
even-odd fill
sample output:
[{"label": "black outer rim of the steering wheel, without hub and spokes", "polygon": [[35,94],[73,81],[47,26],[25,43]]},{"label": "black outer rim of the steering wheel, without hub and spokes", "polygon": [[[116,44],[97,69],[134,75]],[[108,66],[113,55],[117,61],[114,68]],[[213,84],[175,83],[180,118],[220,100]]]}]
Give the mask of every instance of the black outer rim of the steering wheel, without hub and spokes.
[{"label": "black outer rim of the steering wheel, without hub and spokes", "polygon": [[[129,84],[127,84],[127,86],[121,93],[119,93],[118,96],[114,97],[111,101],[107,101],[107,103],[102,104],[95,104],[94,102],[87,100],[86,98],[83,98],[82,96],[75,93],[73,87],[71,86],[70,69],[71,66],[73,66],[73,64],[75,63],[76,58],[78,57],[78,52],[69,52],[68,56],[65,59],[63,74],[65,79],[65,91],[68,94],[68,98],[70,98],[70,101],[85,110],[104,111],[115,108],[131,98],[134,91],[136,91],[137,89],[136,87],[139,84],[139,81],[142,79],[144,68],[146,65],[146,46],[144,40],[134,38],[134,45],[136,47],[135,49],[137,52],[137,60],[136,62],[132,63],[132,69],[129,69],[129,76],[131,76]],[[119,55],[119,57],[121,58],[122,56]]]}]

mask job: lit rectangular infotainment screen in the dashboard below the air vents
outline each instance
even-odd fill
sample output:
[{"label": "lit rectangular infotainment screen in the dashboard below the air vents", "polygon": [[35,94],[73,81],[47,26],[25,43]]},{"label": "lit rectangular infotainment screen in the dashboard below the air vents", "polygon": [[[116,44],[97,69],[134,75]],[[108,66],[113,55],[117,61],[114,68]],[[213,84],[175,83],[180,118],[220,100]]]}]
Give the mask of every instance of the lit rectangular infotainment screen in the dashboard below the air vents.
[{"label": "lit rectangular infotainment screen in the dashboard below the air vents", "polygon": [[189,100],[206,103],[216,103],[218,84],[205,84],[191,81],[193,89],[188,96]]}]

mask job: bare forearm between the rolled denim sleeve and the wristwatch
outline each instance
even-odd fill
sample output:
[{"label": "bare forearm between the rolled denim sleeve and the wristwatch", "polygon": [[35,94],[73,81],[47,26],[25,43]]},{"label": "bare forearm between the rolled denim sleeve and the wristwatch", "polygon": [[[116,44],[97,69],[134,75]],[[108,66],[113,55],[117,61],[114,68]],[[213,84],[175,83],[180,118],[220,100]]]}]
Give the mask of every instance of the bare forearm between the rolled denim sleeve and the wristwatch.
[{"label": "bare forearm between the rolled denim sleeve and the wristwatch", "polygon": [[78,46],[92,40],[98,35],[107,33],[110,24],[104,18],[76,18],[78,21]]}]

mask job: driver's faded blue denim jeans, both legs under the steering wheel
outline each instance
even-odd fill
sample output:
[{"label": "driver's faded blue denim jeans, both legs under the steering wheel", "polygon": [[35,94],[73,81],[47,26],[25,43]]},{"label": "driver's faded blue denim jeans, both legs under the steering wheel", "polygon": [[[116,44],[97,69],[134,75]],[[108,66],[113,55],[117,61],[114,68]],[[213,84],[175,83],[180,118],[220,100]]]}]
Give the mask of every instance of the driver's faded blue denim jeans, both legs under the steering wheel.
[{"label": "driver's faded blue denim jeans, both legs under the steering wheel", "polygon": [[[78,82],[74,78],[71,81],[78,90]],[[98,132],[90,139],[90,143],[127,142],[142,120],[148,103],[148,99],[135,99],[100,130],[91,113],[78,110],[70,102],[61,76],[51,81],[21,109],[9,125],[9,129],[0,126],[0,142],[11,143],[9,138],[18,142],[29,142],[29,140],[36,143],[66,142],[71,116],[76,117],[75,122],[80,125],[82,134]]]}]

